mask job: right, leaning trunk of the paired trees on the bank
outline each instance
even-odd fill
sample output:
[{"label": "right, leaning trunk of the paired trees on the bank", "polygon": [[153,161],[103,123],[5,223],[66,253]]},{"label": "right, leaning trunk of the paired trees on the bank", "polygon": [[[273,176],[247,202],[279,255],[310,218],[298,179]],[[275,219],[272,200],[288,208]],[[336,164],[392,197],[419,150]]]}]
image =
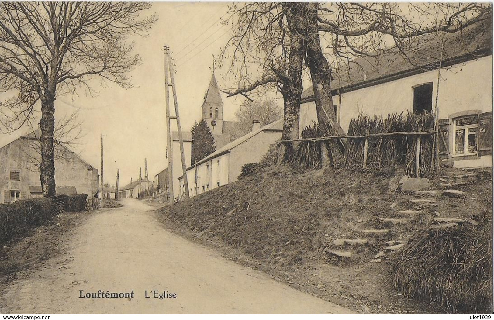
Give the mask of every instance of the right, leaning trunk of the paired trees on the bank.
[{"label": "right, leaning trunk of the paired trees on the bank", "polygon": [[319,123],[336,121],[331,96],[331,69],[321,49],[321,41],[317,31],[317,8],[319,3],[309,2],[307,13],[307,58],[310,70],[314,102],[316,103],[317,120]]}]

